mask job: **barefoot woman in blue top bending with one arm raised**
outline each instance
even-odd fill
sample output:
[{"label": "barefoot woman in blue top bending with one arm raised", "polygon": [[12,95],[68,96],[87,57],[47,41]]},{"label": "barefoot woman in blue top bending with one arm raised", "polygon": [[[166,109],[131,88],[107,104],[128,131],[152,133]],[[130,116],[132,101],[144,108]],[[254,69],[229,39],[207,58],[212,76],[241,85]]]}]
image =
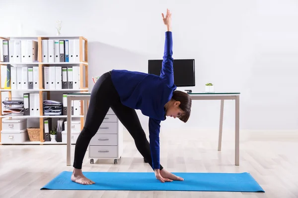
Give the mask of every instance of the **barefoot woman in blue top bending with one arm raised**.
[{"label": "barefoot woman in blue top bending with one arm raised", "polygon": [[[74,172],[71,177],[73,182],[84,185],[94,184],[82,174],[82,161],[91,138],[96,134],[110,107],[134,138],[138,150],[154,170],[156,179],[160,182],[183,181],[183,178],[166,171],[159,164],[161,120],[165,120],[165,116],[170,116],[187,122],[191,108],[188,94],[175,91],[171,13],[168,9],[166,16],[162,14],[162,18],[167,31],[160,76],[112,70],[103,74],[95,83],[85,125],[75,145]],[[149,116],[150,143],[135,109],[140,109],[144,115]]]}]

